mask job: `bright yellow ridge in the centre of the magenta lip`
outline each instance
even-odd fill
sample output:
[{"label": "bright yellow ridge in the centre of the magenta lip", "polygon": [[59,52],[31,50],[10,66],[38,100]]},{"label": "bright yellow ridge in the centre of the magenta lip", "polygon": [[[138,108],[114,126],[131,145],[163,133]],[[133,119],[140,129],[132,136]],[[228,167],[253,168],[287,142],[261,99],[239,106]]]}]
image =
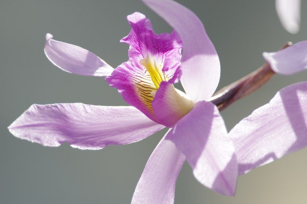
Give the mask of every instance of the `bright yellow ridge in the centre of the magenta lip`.
[{"label": "bright yellow ridge in the centre of the magenta lip", "polygon": [[166,81],[161,65],[157,64],[150,55],[147,55],[145,59],[140,60],[140,64],[146,68],[157,89],[160,87],[161,81]]}]

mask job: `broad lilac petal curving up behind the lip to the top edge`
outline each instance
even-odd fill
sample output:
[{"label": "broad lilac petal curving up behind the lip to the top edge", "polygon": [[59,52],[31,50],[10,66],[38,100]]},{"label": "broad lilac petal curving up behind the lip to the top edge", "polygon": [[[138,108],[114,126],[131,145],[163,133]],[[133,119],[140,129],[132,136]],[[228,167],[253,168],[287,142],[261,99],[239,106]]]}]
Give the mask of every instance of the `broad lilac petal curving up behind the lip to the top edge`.
[{"label": "broad lilac petal curving up behind the lip to the top edge", "polygon": [[204,25],[192,11],[171,0],[142,0],[180,35],[184,53],[181,83],[193,102],[208,100],[220,80],[220,60]]}]

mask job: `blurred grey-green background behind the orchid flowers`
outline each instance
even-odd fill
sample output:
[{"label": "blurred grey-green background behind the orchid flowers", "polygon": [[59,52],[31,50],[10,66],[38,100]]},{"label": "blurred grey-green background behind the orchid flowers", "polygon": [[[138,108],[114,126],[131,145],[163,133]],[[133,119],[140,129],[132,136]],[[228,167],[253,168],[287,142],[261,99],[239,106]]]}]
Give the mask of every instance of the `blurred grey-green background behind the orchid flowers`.
[{"label": "blurred grey-green background behind the orchid flowers", "polygon": [[[221,62],[218,88],[249,74],[265,61],[262,52],[290,40],[306,40],[307,3],[301,31],[287,33],[274,0],[178,0],[196,13]],[[127,61],[119,43],[130,26],[126,16],[141,12],[156,33],[172,29],[140,0],[1,0],[0,2],[0,203],[130,203],[151,152],[166,129],[134,144],[79,150],[67,143],[44,147],[9,133],[9,126],[33,103],[127,105],[103,78],[61,71],[45,57],[45,34],[78,45],[112,67]],[[283,87],[307,79],[307,72],[274,76],[262,89],[221,112],[228,131],[269,102]],[[213,192],[194,179],[185,163],[176,184],[175,203],[306,203],[307,149],[252,170],[238,179],[235,197]]]}]

